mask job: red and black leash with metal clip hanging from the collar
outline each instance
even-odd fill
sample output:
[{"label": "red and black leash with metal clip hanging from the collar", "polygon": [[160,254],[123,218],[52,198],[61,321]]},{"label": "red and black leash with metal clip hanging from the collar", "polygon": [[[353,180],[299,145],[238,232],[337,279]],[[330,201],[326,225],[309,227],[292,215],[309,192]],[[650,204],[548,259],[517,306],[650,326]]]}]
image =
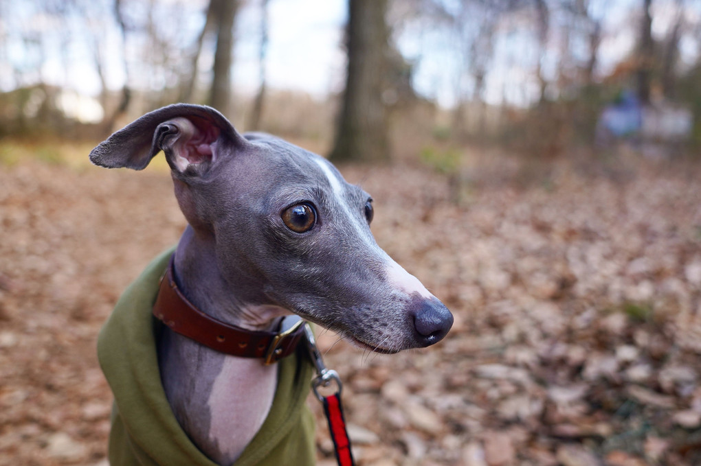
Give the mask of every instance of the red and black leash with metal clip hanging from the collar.
[{"label": "red and black leash with metal clip hanging from the collar", "polygon": [[[304,323],[304,335],[309,357],[314,363],[317,376],[311,381],[311,389],[314,395],[324,406],[324,414],[329,423],[329,432],[332,442],[334,442],[334,452],[339,466],[355,466],[353,454],[351,453],[351,439],[348,437],[346,428],[346,418],[343,417],[343,407],[341,406],[341,378],[338,372],[327,369],[324,360],[321,358],[319,348],[316,347],[316,340],[308,323]],[[327,397],[319,393],[320,387],[328,387],[333,382],[336,383],[336,391]]]}]

